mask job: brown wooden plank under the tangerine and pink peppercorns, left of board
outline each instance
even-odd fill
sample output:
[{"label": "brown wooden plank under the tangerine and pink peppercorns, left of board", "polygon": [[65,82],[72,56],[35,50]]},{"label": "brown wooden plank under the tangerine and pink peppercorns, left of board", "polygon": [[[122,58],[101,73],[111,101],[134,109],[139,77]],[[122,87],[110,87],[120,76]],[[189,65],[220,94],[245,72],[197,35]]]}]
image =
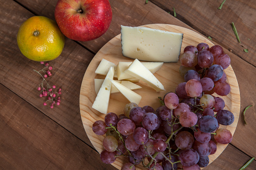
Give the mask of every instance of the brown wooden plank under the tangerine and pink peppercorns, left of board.
[{"label": "brown wooden plank under the tangerine and pink peppercorns, left of board", "polygon": [[47,78],[50,85],[62,88],[61,104],[53,109],[43,106],[46,99],[39,97],[38,85],[42,82],[39,74],[33,71],[44,68],[39,62],[31,61],[23,56],[17,46],[16,36],[20,25],[32,17],[29,11],[11,1],[1,0],[0,15],[0,83],[27,100],[37,109],[51,117],[83,141],[91,144],[83,129],[79,112],[79,92],[81,81],[93,54],[66,39],[60,57],[48,62],[53,67],[52,76]]}]

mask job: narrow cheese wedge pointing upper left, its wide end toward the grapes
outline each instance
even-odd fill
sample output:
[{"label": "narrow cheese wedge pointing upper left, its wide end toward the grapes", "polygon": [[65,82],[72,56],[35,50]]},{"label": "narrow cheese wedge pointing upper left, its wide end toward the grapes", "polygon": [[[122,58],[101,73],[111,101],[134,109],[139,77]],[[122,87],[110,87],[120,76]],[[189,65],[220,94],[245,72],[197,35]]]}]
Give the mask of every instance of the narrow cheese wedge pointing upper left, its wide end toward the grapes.
[{"label": "narrow cheese wedge pointing upper left, its wide end toward the grapes", "polygon": [[124,85],[114,81],[113,79],[109,80],[112,82],[112,84],[130,101],[136,104],[139,104],[140,100],[141,100],[141,96],[137,93],[135,93],[134,91],[128,89],[127,87],[125,87]]}]

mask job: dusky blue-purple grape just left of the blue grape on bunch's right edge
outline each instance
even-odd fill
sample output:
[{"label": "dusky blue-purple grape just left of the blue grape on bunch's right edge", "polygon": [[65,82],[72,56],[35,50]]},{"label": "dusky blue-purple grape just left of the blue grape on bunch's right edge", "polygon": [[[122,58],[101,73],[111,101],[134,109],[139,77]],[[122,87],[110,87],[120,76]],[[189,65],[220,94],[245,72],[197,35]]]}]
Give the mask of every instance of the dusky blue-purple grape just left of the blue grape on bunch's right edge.
[{"label": "dusky blue-purple grape just left of the blue grape on bunch's right edge", "polygon": [[213,116],[203,116],[198,120],[198,127],[202,132],[211,133],[218,128],[218,121]]}]

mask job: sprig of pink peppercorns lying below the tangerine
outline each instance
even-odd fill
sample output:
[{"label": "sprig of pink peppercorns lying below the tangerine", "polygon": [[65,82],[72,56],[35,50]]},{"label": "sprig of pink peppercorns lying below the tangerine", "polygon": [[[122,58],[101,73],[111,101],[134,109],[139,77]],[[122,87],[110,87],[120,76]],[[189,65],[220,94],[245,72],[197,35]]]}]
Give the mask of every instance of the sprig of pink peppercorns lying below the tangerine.
[{"label": "sprig of pink peppercorns lying below the tangerine", "polygon": [[[44,64],[44,62],[40,62],[41,64]],[[50,70],[52,70],[52,67],[49,66],[48,63],[44,64],[44,68],[42,70],[36,71],[42,78],[43,81],[41,84],[39,84],[37,90],[40,91],[39,96],[40,97],[47,97],[48,96],[48,100],[46,100],[43,105],[46,106],[47,102],[51,102],[50,108],[53,108],[54,105],[60,105],[60,94],[61,94],[61,88],[59,88],[58,90],[56,89],[56,86],[50,86],[48,84],[48,82],[46,81],[46,78],[48,76],[51,76],[51,72]]]}]

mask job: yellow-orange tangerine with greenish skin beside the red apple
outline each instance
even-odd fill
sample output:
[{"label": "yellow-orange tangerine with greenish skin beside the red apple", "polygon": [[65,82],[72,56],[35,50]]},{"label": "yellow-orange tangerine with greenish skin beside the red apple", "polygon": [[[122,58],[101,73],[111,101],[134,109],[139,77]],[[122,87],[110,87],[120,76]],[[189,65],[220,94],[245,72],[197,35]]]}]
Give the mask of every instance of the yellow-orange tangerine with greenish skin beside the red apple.
[{"label": "yellow-orange tangerine with greenish skin beside the red apple", "polygon": [[21,53],[33,61],[50,61],[61,54],[65,36],[57,24],[43,16],[26,20],[19,28],[17,43]]}]

